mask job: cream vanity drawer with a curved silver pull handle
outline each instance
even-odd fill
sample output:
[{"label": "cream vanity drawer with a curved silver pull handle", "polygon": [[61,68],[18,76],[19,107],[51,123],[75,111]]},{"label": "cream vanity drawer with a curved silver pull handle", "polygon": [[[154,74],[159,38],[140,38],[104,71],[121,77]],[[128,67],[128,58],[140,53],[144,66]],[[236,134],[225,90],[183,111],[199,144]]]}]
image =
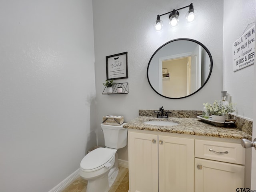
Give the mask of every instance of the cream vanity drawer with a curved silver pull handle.
[{"label": "cream vanity drawer with a curved silver pull handle", "polygon": [[196,140],[195,156],[228,163],[245,164],[245,149],[239,143]]}]

